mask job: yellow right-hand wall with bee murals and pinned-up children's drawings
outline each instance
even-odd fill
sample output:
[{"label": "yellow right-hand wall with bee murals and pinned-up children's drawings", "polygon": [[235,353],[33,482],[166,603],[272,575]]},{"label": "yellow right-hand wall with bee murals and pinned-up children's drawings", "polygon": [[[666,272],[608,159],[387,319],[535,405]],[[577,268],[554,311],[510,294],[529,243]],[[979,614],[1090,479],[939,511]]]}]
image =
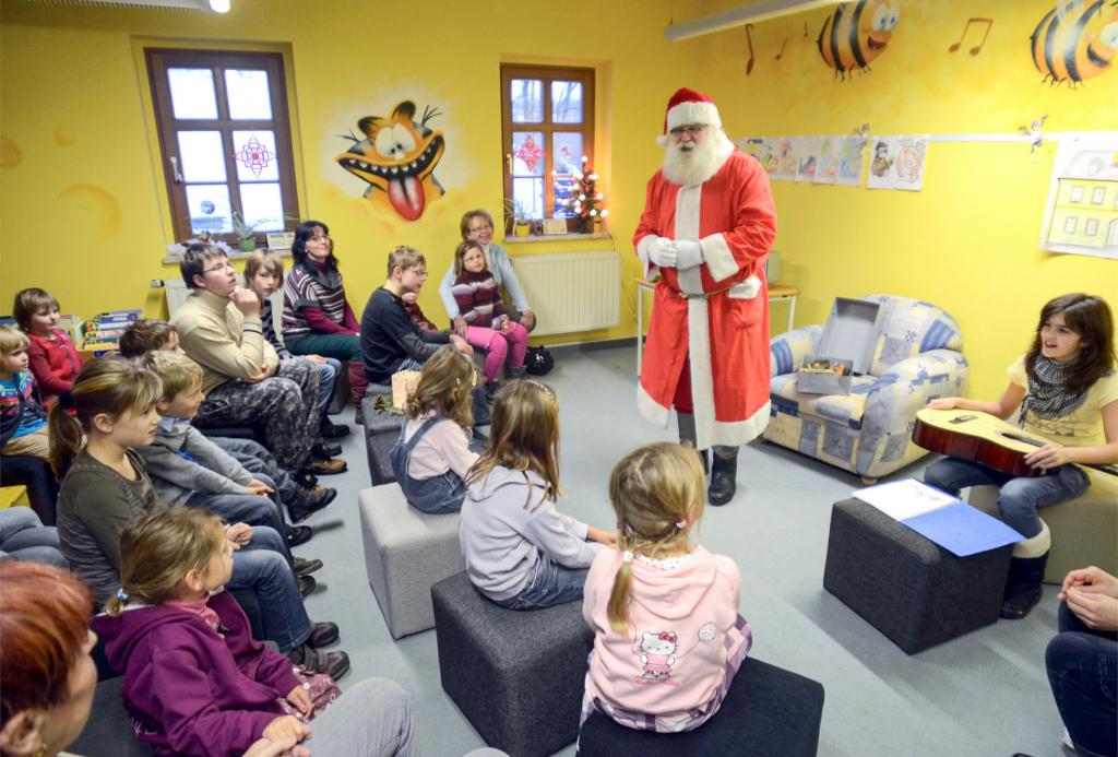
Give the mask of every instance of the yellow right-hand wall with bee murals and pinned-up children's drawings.
[{"label": "yellow right-hand wall with bee murals and pinned-up children's drawings", "polygon": [[[1073,91],[1043,84],[1033,67],[1029,38],[1052,0],[899,4],[900,22],[872,72],[845,82],[815,45],[826,10],[757,25],[749,76],[745,29],[703,37],[701,78],[730,136],[849,134],[863,123],[874,134],[1006,133],[1043,113],[1049,131],[1118,129],[1118,72]],[[967,53],[980,39],[972,27],[963,50],[948,53],[970,17],[994,19],[984,49]],[[1118,262],[1039,247],[1054,154],[1054,146],[1031,154],[1027,144],[932,143],[920,192],[774,182],[781,278],[802,291],[797,324],[823,322],[835,296],[936,303],[963,329],[969,394],[997,397],[1045,301],[1088,291],[1118,306]]]}]

